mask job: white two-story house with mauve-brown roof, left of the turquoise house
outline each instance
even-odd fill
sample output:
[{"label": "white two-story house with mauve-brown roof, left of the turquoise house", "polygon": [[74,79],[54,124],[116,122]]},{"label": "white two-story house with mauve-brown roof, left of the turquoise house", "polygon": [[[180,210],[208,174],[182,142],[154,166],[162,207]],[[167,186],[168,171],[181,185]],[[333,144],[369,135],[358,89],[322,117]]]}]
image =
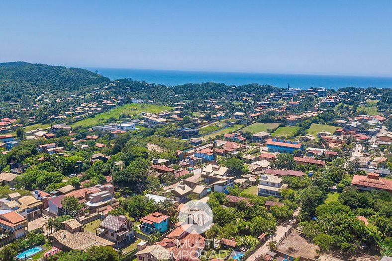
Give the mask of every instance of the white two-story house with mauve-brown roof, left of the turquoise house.
[{"label": "white two-story house with mauve-brown roof, left of the turquoise house", "polygon": [[107,215],[97,231],[119,246],[133,239],[133,222],[124,215]]}]

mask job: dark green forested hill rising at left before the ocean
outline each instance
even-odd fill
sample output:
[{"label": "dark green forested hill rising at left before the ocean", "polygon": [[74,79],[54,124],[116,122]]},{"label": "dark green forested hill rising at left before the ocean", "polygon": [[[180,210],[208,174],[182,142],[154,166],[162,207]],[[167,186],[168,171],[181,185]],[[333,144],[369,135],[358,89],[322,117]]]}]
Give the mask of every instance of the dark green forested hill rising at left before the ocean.
[{"label": "dark green forested hill rising at left before the ocean", "polygon": [[23,96],[39,96],[45,92],[87,92],[109,82],[109,78],[81,68],[66,68],[25,62],[0,64],[0,99],[18,101]]}]

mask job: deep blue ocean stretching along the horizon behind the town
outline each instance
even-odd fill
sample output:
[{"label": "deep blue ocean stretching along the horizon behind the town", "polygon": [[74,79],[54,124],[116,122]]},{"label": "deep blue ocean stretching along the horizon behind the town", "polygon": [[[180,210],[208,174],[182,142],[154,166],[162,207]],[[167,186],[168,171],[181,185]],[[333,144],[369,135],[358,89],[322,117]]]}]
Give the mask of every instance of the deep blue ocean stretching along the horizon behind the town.
[{"label": "deep blue ocean stretching along the horizon behind the town", "polygon": [[176,86],[185,83],[215,82],[227,85],[243,85],[248,83],[270,84],[275,87],[286,88],[290,83],[292,88],[307,89],[309,87],[324,87],[338,89],[343,87],[376,87],[392,88],[392,77],[372,76],[340,76],[314,74],[278,74],[278,73],[246,73],[246,72],[212,72],[212,71],[182,71],[182,70],[151,70],[124,68],[93,68],[111,80],[132,78],[144,80],[148,83],[159,83]]}]

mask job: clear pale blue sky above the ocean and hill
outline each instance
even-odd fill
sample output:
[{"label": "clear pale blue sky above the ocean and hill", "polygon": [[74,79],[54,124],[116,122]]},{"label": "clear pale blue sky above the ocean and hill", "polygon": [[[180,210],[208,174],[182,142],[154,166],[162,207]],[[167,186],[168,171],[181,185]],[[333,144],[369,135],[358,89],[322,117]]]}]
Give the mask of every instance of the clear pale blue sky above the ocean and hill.
[{"label": "clear pale blue sky above the ocean and hill", "polygon": [[0,1],[0,62],[392,76],[392,1]]}]

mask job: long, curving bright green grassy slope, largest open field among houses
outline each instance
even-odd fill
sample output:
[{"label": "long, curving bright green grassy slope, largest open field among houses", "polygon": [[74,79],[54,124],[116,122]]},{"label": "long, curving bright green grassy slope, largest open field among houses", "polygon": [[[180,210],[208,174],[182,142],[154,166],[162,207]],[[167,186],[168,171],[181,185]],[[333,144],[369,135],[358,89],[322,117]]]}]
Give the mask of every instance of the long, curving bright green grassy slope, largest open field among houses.
[{"label": "long, curving bright green grassy slope, largest open field among houses", "polygon": [[99,113],[94,118],[88,118],[75,123],[75,126],[95,126],[104,123],[107,119],[114,117],[118,119],[121,114],[135,115],[141,112],[158,113],[165,110],[171,110],[172,107],[158,104],[125,104],[107,112]]}]

